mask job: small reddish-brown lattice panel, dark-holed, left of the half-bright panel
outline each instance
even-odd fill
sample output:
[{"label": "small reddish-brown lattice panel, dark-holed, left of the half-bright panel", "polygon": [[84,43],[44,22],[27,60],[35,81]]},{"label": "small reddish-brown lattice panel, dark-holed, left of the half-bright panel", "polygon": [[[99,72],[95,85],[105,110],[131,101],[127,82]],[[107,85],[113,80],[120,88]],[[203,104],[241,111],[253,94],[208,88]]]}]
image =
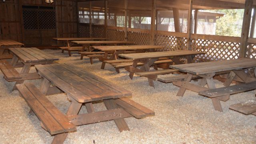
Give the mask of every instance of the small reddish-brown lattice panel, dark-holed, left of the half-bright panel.
[{"label": "small reddish-brown lattice panel, dark-holed, left of the half-bright panel", "polygon": [[140,32],[128,32],[128,41],[136,45],[150,45],[150,34]]}]

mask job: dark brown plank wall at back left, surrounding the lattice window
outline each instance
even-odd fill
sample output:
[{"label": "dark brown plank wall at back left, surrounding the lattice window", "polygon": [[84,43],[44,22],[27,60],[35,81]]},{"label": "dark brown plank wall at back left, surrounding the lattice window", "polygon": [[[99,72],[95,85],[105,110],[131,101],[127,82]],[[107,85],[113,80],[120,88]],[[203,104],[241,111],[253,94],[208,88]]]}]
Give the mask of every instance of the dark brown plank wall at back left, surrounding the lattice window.
[{"label": "dark brown plank wall at back left, surrounding the lattice window", "polygon": [[[42,30],[41,37],[35,30],[24,30],[22,6],[53,6],[56,10],[56,29]],[[0,2],[0,39],[12,39],[25,44],[50,45],[56,43],[52,37],[77,37],[78,14],[75,0],[54,0],[46,4],[44,0],[8,0]],[[40,39],[41,40],[38,40]]]}]

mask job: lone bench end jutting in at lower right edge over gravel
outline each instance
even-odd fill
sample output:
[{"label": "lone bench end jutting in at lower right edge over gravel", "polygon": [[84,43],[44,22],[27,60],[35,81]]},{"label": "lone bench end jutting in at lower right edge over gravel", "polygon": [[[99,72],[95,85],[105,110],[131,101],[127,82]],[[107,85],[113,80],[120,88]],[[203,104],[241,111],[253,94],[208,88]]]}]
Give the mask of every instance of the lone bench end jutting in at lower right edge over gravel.
[{"label": "lone bench end jutting in at lower right edge over gravel", "polygon": [[232,104],[229,106],[231,110],[235,110],[238,112],[241,112],[243,114],[252,114],[256,112],[256,102],[245,102],[245,103],[239,103],[239,104]]}]

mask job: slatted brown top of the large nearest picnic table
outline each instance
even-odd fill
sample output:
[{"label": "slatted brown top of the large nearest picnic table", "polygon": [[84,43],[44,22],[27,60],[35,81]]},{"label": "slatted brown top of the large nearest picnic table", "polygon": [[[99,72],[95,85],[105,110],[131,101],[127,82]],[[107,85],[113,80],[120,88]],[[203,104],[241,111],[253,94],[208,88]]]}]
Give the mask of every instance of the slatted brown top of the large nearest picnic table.
[{"label": "slatted brown top of the large nearest picnic table", "polygon": [[131,96],[132,93],[81,68],[67,64],[36,65],[38,73],[80,103]]}]

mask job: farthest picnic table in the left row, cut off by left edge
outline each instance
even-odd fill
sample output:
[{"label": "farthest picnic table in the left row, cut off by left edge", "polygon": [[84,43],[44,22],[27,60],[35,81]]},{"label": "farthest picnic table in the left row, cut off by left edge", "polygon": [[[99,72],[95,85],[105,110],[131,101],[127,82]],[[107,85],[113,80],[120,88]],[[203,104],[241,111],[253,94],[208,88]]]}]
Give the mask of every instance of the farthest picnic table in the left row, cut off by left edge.
[{"label": "farthest picnic table in the left row, cut off by left edge", "polygon": [[8,48],[20,48],[21,46],[24,44],[15,40],[0,40],[0,59],[12,58],[12,54],[4,54],[4,51],[8,51]]}]

